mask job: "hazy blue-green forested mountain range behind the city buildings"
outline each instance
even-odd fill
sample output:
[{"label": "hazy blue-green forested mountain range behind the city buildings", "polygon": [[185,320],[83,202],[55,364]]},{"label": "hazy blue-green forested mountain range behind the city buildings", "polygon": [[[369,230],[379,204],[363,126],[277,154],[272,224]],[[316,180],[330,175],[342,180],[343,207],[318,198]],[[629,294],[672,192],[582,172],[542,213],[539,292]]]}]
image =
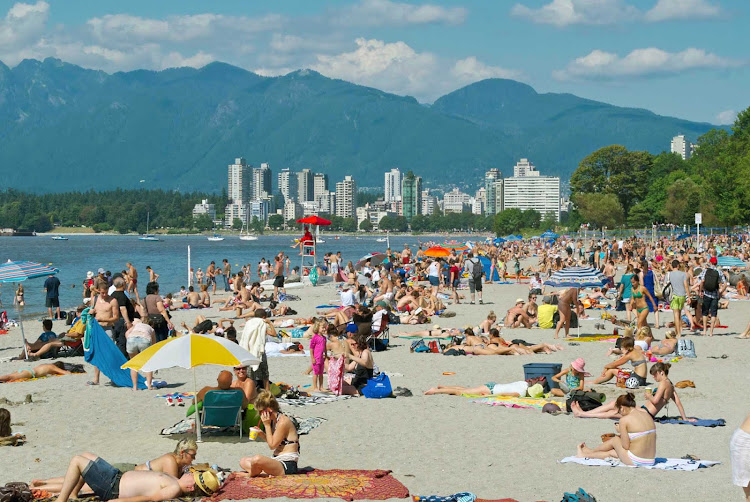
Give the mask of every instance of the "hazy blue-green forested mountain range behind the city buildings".
[{"label": "hazy blue-green forested mountain range behind the city buildings", "polygon": [[235,157],[325,172],[332,183],[351,174],[382,186],[400,167],[428,185],[468,188],[492,167],[512,175],[526,157],[567,181],[600,147],[659,153],[676,134],[695,141],[713,127],[504,79],[425,105],[311,70],[263,77],[212,63],[108,74],[52,58],[0,62],[0,175],[5,188],[35,192],[220,190]]}]

